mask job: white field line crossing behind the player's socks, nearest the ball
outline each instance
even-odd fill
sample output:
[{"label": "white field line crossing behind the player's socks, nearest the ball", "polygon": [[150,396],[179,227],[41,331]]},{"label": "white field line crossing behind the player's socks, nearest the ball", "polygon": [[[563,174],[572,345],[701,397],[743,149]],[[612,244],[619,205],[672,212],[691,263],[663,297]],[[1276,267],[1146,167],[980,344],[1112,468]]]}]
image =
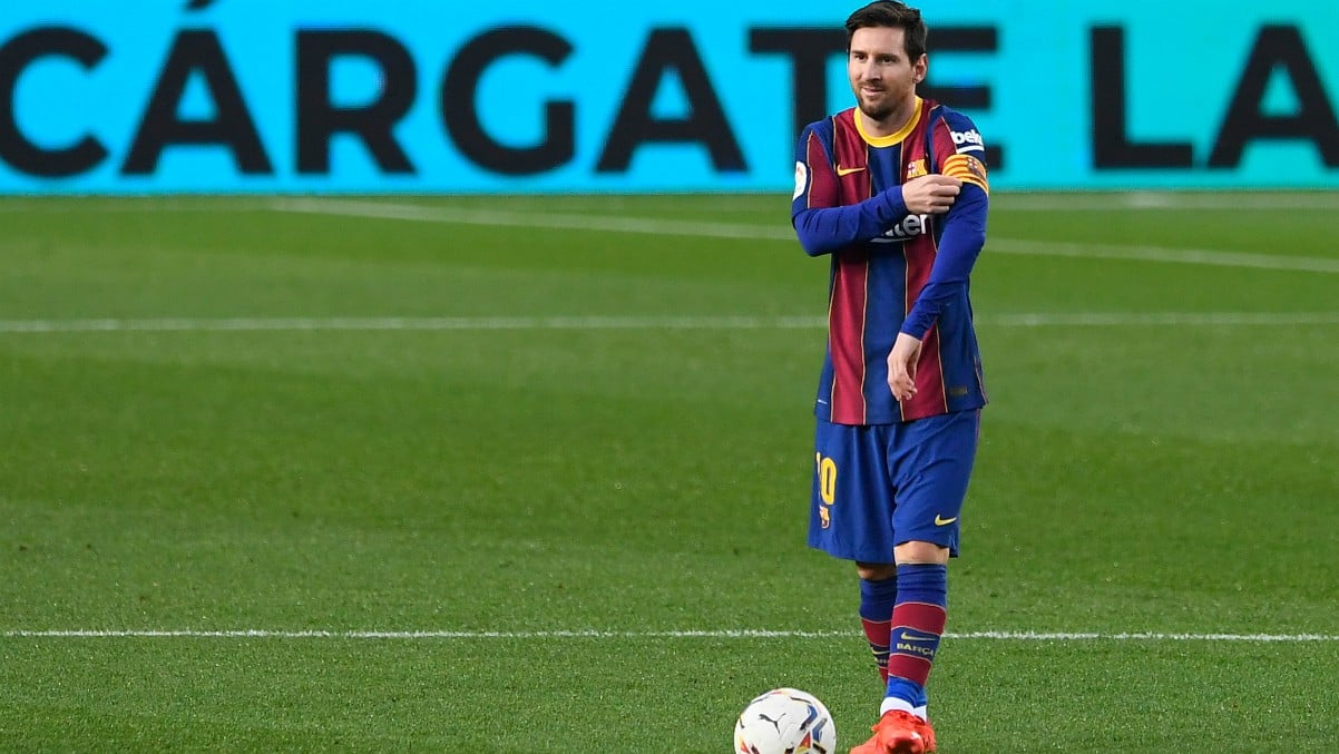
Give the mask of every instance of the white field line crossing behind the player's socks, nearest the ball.
[{"label": "white field line crossing behind the player's socks, nearest the ball", "polygon": [[[857,637],[854,631],[3,631],[5,639],[823,639]],[[1160,632],[1040,632],[968,631],[945,633],[945,639],[1002,642],[1252,642],[1297,643],[1339,642],[1330,633],[1160,633]]]}]

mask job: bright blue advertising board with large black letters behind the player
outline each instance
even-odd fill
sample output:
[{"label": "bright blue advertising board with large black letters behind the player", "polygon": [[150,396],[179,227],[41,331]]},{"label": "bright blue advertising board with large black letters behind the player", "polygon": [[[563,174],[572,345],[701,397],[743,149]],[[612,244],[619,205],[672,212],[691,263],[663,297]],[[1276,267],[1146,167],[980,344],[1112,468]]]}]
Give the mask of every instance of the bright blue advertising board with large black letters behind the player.
[{"label": "bright blue advertising board with large black letters behind the player", "polygon": [[[789,192],[856,5],[21,4],[0,193]],[[920,7],[996,189],[1339,186],[1326,3]]]}]

